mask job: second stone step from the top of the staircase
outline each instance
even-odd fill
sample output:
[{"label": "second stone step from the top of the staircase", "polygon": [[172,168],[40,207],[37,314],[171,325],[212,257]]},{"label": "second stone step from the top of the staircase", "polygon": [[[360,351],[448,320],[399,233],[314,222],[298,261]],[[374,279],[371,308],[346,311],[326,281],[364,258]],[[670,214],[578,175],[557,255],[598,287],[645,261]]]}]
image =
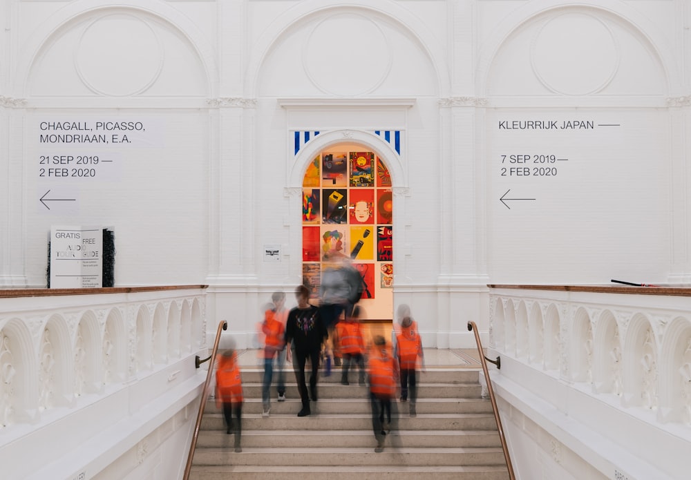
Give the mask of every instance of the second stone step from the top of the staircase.
[{"label": "second stone step from the top of the staircase", "polygon": [[[345,399],[345,398],[369,398],[369,387],[366,385],[341,385],[340,383],[317,383],[317,394],[324,399]],[[261,399],[261,383],[243,383],[243,394],[246,399]],[[276,387],[272,385],[272,396],[276,396]],[[297,384],[287,381],[285,384],[285,394],[291,399],[298,399]],[[482,387],[479,383],[419,383],[417,385],[417,398],[431,399],[480,399]]]}]

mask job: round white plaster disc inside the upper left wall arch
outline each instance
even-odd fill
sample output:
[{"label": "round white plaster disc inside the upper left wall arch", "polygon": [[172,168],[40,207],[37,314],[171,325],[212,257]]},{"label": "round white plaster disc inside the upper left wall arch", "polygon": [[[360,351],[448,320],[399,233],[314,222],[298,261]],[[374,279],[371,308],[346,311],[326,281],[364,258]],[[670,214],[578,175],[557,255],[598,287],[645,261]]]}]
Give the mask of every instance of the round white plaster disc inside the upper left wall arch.
[{"label": "round white plaster disc inside the upper left wall arch", "polygon": [[74,59],[79,78],[90,90],[124,97],[142,93],[158,79],[164,49],[144,19],[118,13],[97,18],[86,27]]}]

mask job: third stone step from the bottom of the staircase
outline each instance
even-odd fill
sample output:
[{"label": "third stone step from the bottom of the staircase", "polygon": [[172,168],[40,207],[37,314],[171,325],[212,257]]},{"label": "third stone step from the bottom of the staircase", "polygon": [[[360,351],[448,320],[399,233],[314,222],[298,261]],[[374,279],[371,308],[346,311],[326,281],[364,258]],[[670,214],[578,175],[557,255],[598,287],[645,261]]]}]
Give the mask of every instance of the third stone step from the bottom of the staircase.
[{"label": "third stone step from the bottom of the staircase", "polygon": [[[501,447],[496,431],[491,430],[400,430],[394,443],[408,448]],[[299,447],[319,448],[325,445],[354,448],[372,444],[369,430],[244,430],[243,448]],[[231,448],[233,435],[225,430],[203,430],[197,438],[197,448]]]}]

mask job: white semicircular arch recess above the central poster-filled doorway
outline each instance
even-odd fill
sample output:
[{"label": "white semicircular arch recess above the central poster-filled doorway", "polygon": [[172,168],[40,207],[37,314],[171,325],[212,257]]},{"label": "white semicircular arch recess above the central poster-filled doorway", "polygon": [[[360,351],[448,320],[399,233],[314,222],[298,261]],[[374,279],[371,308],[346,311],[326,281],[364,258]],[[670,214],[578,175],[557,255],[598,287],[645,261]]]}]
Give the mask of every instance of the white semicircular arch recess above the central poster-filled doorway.
[{"label": "white semicircular arch recess above the central poster-filled doorway", "polygon": [[[372,26],[366,30],[366,35],[359,35],[361,38],[356,39],[357,44],[354,42],[348,44],[347,28],[336,21],[337,17],[343,15],[350,15],[350,19],[360,26]],[[334,23],[327,25],[325,20],[334,20]],[[323,72],[310,71],[316,69],[310,67],[310,58],[304,55],[305,48],[309,50],[307,44],[310,42],[310,36],[315,30],[319,30],[320,26],[331,33],[340,32],[341,28],[345,32],[345,38],[342,35],[327,35],[313,42],[316,50],[343,52],[343,55],[331,55],[333,59],[365,60],[370,59],[377,52],[384,52],[386,55],[380,55],[379,61],[375,61],[372,65],[378,73],[381,73],[381,77],[377,75],[377,80],[381,81],[374,81],[364,88],[349,90],[348,79],[354,79],[359,87],[363,85],[361,79],[349,77],[351,71],[344,67],[338,70],[342,81],[339,87],[349,91],[337,91],[338,88],[334,90],[337,85],[327,85],[323,82],[327,80],[328,83],[328,79],[322,76],[328,73],[328,69]],[[351,32],[353,35],[357,33],[354,30]],[[279,49],[281,49],[280,52],[278,52]],[[250,63],[247,67],[245,85],[248,88],[248,97],[274,95],[271,88],[262,84],[263,81],[272,78],[277,78],[278,83],[282,85],[281,88],[290,91],[290,93],[278,95],[318,94],[321,96],[328,93],[328,95],[349,97],[360,94],[377,95],[379,89],[388,88],[386,84],[388,80],[395,79],[399,82],[399,87],[404,90],[402,93],[399,93],[401,90],[397,90],[393,95],[446,95],[450,91],[448,72],[451,70],[446,64],[445,56],[446,50],[439,44],[435,33],[410,10],[401,8],[395,3],[383,0],[357,0],[344,6],[343,2],[337,0],[307,0],[297,3],[296,6],[284,12],[270,23],[263,35],[258,38],[249,55]],[[272,57],[275,57],[276,61]],[[381,61],[381,57],[386,57],[387,60]],[[393,59],[393,64],[388,68],[389,75],[387,76],[383,64],[388,64],[389,59]],[[332,61],[322,56],[321,61],[324,60]],[[267,65],[271,64],[273,64],[271,68],[276,70],[267,70]],[[319,61],[314,64],[315,67],[319,65],[323,64]],[[429,66],[429,72],[425,73],[429,77],[425,79],[424,87],[419,83],[422,65]],[[303,66],[303,68],[294,68],[294,66]],[[276,71],[280,72],[278,77],[274,75]],[[412,81],[413,79],[417,79],[417,84]],[[431,83],[428,84],[428,81]],[[421,87],[424,90],[431,88],[431,91],[426,93],[415,91]],[[392,95],[392,91],[389,90],[386,95]]]}]

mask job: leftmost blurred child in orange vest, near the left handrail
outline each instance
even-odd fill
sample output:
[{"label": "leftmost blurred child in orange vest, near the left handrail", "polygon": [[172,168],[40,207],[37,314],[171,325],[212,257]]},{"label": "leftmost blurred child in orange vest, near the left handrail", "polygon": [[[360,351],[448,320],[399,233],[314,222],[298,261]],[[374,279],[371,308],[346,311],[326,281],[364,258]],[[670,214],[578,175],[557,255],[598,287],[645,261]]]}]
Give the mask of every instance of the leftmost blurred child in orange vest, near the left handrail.
[{"label": "leftmost blurred child in orange vest, near the left handrail", "polygon": [[242,452],[240,436],[243,432],[243,379],[234,349],[227,349],[218,357],[216,407],[223,408],[227,434],[235,434],[235,451]]}]

